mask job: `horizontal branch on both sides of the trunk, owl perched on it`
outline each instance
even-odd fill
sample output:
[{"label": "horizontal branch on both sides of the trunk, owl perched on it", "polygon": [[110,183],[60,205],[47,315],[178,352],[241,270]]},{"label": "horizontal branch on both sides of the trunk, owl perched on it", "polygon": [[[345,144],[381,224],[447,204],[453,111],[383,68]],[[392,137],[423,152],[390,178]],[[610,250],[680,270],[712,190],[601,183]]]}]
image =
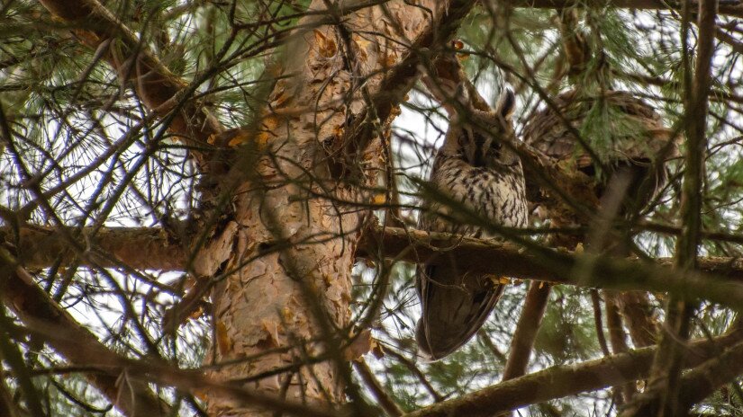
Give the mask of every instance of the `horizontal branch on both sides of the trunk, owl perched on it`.
[{"label": "horizontal branch on both sides of the trunk, owl perched on it", "polygon": [[[15,241],[7,228],[0,228],[0,237],[15,242],[19,262],[27,269],[50,267],[58,260],[68,264],[74,257],[65,240],[49,227],[26,226],[20,235]],[[85,230],[82,235],[86,236]],[[87,236],[86,245],[97,266],[106,268],[128,265],[138,270],[183,271],[186,264],[186,249],[159,228],[104,228]],[[743,259],[738,258],[699,258],[697,271],[681,272],[673,269],[672,258],[624,260],[380,226],[367,230],[357,256],[415,263],[436,262],[441,253],[456,257],[472,272],[581,287],[671,291],[743,306]]]}]

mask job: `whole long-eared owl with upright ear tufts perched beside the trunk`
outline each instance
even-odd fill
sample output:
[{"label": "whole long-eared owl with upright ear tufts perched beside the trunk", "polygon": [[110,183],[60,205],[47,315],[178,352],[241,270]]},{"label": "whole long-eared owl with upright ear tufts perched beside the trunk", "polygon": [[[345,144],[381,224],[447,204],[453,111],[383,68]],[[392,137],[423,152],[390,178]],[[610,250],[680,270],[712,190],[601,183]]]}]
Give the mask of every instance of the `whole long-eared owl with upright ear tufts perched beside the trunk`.
[{"label": "whole long-eared owl with upright ear tufts perched beside the trunk", "polygon": [[[472,225],[467,210],[501,226],[522,227],[527,206],[521,161],[505,141],[512,140],[513,93],[503,93],[496,111],[477,111],[469,105],[464,88],[458,89],[459,106],[449,124],[444,145],[434,159],[430,186],[458,204],[424,200],[422,230],[493,237]],[[466,110],[463,110],[466,109]],[[416,339],[421,354],[441,359],[467,342],[485,323],[503,293],[494,277],[465,272],[447,253],[422,264],[416,288],[421,298],[421,320]]]}]

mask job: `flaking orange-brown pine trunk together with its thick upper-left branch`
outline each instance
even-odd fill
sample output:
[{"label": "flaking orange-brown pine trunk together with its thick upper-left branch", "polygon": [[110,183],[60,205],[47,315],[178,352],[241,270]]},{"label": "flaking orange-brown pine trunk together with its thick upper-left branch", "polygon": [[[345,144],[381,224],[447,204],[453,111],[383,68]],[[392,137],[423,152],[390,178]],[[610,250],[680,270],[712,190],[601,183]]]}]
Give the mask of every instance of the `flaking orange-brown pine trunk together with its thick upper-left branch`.
[{"label": "flaking orange-brown pine trunk together with its thick upper-left branch", "polygon": [[[224,155],[193,155],[211,176],[205,185],[213,185],[203,207],[231,208],[204,213],[205,244],[193,244],[186,266],[207,283],[202,287],[216,283],[215,340],[206,360],[215,365],[212,377],[311,404],[342,402],[349,382],[341,363],[350,335],[349,278],[369,212],[353,203],[368,207],[374,197],[365,191],[380,165],[373,139],[414,81],[413,49],[446,41],[474,3],[313,2],[309,8],[323,13],[300,22],[303,29],[279,54],[286,59],[277,59],[276,73],[285,77],[268,97],[261,131],[225,132],[197,102],[182,102],[198,84],[170,75],[101,4],[42,2],[84,28],[76,30],[82,43],[131,81],[146,106],[170,118],[170,129],[186,142],[247,149],[234,164]],[[439,25],[443,18],[447,24]],[[332,360],[296,365],[318,355]],[[225,361],[230,365],[218,366]],[[292,372],[276,372],[285,367]],[[250,379],[264,373],[271,376]],[[268,413],[218,393],[205,394],[213,415]]]}]

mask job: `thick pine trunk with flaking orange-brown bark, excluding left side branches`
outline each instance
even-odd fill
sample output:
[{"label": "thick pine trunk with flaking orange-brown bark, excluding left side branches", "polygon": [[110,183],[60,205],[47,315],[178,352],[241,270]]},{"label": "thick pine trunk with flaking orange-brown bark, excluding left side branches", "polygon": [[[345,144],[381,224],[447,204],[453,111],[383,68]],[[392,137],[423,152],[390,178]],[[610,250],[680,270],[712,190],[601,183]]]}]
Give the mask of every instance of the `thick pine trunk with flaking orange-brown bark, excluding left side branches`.
[{"label": "thick pine trunk with flaking orange-brown bark, excluding left side branches", "polygon": [[[262,115],[265,134],[258,147],[266,156],[243,173],[232,193],[233,216],[219,236],[197,254],[196,272],[213,277],[235,271],[213,290],[216,341],[209,364],[230,361],[211,373],[219,380],[249,380],[244,386],[309,404],[338,404],[349,385],[348,366],[340,350],[349,340],[350,273],[355,250],[373,198],[364,190],[375,183],[379,166],[376,140],[340,155],[352,164],[352,178],[332,178],[326,150],[345,150],[358,143],[346,132],[348,120],[362,114],[385,129],[394,117],[374,120],[384,102],[393,109],[404,92],[380,102],[388,70],[411,56],[411,40],[452,24],[475,2],[391,1],[344,16],[342,23],[318,25],[298,33],[285,46],[279,81]],[[309,9],[337,15],[344,4],[314,1]],[[322,15],[322,14],[320,14]],[[298,24],[317,24],[317,16]],[[449,30],[451,32],[451,30]],[[446,41],[446,39],[440,40]],[[412,45],[421,45],[417,41]],[[351,63],[350,65],[348,63]],[[403,71],[404,74],[404,71]],[[415,72],[406,75],[410,85]],[[371,102],[367,102],[370,97]],[[377,128],[378,129],[378,128]],[[372,137],[374,138],[374,137]],[[348,143],[347,143],[348,142]],[[363,141],[361,141],[363,142]],[[354,207],[333,201],[355,202]],[[289,248],[271,251],[279,243]],[[258,253],[266,253],[255,258]],[[252,261],[247,262],[247,260]],[[290,350],[276,348],[291,347]],[[240,359],[258,355],[258,359]],[[313,365],[308,359],[327,355]],[[306,366],[297,367],[305,361]],[[350,392],[353,395],[353,392]],[[358,403],[358,402],[355,402]],[[260,407],[235,404],[216,392],[208,394],[212,415],[263,415]]]}]

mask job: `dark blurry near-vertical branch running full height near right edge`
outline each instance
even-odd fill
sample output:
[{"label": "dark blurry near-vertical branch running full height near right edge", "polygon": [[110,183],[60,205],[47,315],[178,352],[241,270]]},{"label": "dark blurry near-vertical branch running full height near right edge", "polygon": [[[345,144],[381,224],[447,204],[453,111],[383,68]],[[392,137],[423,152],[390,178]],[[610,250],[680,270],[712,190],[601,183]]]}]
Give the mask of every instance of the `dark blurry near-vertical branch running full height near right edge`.
[{"label": "dark blurry near-vertical branch running full height near right edge", "polygon": [[[691,271],[696,267],[696,258],[701,241],[702,230],[702,191],[704,182],[704,161],[707,150],[707,110],[710,93],[711,58],[714,54],[715,16],[717,0],[701,0],[699,4],[699,40],[693,72],[693,84],[688,84],[691,58],[684,55],[685,115],[686,129],[686,169],[682,190],[681,217],[682,234],[676,243],[675,266],[681,271]],[[682,37],[689,35],[688,22],[691,11],[684,6],[682,15]],[[673,417],[686,413],[681,403],[681,364],[684,359],[684,342],[691,332],[691,320],[695,309],[694,300],[671,294],[666,304],[666,323],[661,333],[659,349],[653,360],[648,393],[642,401],[629,404],[622,411],[622,417],[648,415],[651,411],[657,417]],[[649,398],[649,399],[648,399]],[[639,406],[642,404],[642,406]]]}]

